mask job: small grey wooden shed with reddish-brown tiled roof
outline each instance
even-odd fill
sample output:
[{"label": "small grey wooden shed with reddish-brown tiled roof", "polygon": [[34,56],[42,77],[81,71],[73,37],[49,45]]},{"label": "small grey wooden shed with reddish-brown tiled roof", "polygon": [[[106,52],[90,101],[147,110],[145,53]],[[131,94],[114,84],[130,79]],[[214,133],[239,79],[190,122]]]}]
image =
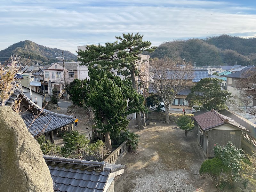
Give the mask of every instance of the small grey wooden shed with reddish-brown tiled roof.
[{"label": "small grey wooden shed with reddish-brown tiled roof", "polygon": [[198,130],[197,142],[207,158],[214,157],[213,146],[216,143],[225,146],[231,141],[236,148],[241,148],[242,132],[250,132],[234,119],[214,109],[196,115],[194,119]]}]

